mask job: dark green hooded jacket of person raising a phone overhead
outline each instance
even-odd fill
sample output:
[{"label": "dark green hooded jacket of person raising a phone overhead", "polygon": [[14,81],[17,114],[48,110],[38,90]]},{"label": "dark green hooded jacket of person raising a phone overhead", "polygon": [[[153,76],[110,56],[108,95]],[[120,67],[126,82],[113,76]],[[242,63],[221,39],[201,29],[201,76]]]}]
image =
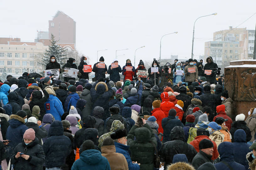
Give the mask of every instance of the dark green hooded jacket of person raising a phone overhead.
[{"label": "dark green hooded jacket of person raising a phone overhead", "polygon": [[[136,140],[133,140],[136,137]],[[154,168],[153,160],[157,139],[146,123],[142,128],[134,125],[127,135],[127,144],[131,150],[131,160],[140,163],[140,170]]]}]

